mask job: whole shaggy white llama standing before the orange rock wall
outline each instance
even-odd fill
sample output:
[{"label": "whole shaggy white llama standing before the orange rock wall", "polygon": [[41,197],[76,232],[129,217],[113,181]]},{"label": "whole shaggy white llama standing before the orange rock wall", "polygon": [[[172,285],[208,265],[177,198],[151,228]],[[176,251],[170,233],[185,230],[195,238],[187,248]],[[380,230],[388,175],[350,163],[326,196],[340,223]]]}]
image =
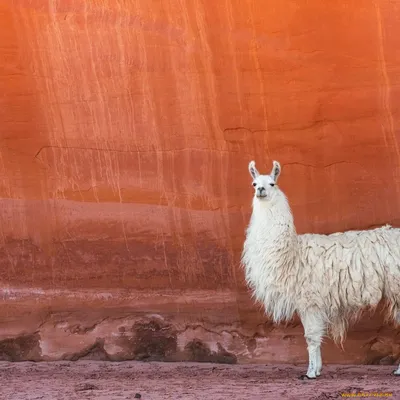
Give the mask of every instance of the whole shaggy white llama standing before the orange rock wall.
[{"label": "whole shaggy white llama standing before the orange rock wall", "polygon": [[251,161],[249,171],[255,193],[242,255],[246,281],[275,322],[299,315],[309,357],[301,378],[313,379],[322,369],[323,336],[343,342],[348,321],[363,309],[384,299],[389,319],[400,322],[400,229],[297,235],[277,186],[280,164],[260,175]]}]

